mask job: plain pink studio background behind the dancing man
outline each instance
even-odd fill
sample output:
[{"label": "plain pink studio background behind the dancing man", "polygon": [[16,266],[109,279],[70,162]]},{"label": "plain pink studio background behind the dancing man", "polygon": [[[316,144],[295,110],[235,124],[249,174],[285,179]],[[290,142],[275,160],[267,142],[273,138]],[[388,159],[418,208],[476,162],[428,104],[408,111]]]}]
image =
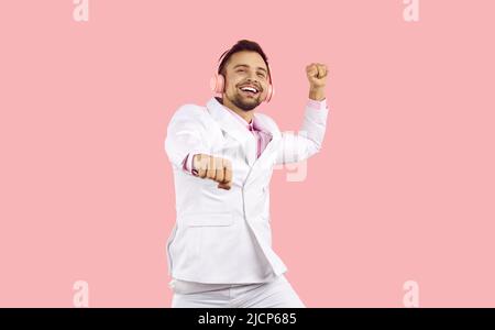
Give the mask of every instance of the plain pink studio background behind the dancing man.
[{"label": "plain pink studio background behind the dancing man", "polygon": [[271,61],[260,111],[298,129],[305,66],[331,107],[307,179],[272,180],[275,250],[309,307],[495,306],[495,1],[0,2],[0,306],[168,307],[163,142],[240,38]]}]

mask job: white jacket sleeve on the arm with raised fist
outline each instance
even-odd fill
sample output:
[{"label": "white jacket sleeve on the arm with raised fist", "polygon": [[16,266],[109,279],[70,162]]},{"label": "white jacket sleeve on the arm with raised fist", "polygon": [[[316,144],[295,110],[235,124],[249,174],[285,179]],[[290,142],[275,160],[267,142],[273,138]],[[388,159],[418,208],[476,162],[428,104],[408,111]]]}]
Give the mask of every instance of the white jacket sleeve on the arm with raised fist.
[{"label": "white jacket sleeve on the arm with raised fist", "polygon": [[318,153],[323,142],[328,113],[326,100],[309,100],[300,130],[282,132],[275,164],[299,163]]}]

